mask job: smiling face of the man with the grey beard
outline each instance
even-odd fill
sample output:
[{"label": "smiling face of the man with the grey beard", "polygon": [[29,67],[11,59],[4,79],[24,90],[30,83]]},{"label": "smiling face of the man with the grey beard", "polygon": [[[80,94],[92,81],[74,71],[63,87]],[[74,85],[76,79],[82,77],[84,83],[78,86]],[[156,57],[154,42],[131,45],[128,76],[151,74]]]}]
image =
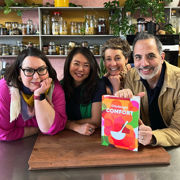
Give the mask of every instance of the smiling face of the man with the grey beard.
[{"label": "smiling face of the man with the grey beard", "polygon": [[164,56],[164,53],[159,54],[154,39],[139,40],[134,47],[134,66],[143,79],[156,82],[161,73]]}]

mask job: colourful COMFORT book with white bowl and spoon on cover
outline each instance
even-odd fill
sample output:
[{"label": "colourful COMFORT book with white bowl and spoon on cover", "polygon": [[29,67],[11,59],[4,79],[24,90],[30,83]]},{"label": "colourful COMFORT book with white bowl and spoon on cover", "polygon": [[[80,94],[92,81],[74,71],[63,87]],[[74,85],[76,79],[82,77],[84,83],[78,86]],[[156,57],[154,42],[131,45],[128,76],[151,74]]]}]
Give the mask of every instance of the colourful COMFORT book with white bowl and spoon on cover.
[{"label": "colourful COMFORT book with white bowl and spoon on cover", "polygon": [[138,151],[140,97],[102,96],[101,144]]}]

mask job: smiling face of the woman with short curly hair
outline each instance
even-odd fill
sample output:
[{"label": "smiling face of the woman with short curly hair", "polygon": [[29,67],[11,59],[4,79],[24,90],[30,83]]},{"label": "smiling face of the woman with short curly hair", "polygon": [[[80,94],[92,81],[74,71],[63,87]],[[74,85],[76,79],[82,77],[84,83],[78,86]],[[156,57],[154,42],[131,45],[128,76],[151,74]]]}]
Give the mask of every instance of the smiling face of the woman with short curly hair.
[{"label": "smiling face of the woman with short curly hair", "polygon": [[111,76],[119,75],[124,71],[128,62],[120,49],[107,49],[105,51],[104,65]]}]

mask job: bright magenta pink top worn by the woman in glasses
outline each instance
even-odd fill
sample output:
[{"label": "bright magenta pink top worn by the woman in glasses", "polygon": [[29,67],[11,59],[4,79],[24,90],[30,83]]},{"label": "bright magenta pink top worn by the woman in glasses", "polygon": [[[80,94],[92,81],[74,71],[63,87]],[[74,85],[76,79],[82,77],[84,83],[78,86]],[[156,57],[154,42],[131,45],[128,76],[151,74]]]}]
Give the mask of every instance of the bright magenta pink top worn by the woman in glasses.
[{"label": "bright magenta pink top worn by the woman in glasses", "polygon": [[[24,121],[19,114],[16,120],[10,123],[11,95],[9,87],[4,79],[0,80],[0,140],[11,141],[20,139],[24,135],[24,127],[38,127],[36,117]],[[54,135],[63,130],[66,124],[66,104],[64,91],[58,81],[54,83],[52,104],[55,110],[55,119],[46,134]]]}]

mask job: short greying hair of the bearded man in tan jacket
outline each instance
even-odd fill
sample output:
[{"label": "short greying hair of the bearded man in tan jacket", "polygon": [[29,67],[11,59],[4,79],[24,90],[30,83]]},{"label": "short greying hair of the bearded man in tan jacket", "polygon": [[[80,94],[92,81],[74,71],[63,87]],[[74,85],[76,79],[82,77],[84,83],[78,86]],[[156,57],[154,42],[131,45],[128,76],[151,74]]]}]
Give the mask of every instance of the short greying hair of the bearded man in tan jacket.
[{"label": "short greying hair of the bearded man in tan jacket", "polygon": [[133,41],[133,52],[134,52],[134,46],[135,46],[136,42],[139,40],[146,40],[146,39],[154,39],[156,42],[156,46],[157,46],[159,54],[161,54],[163,52],[161,41],[153,34],[148,34],[146,32],[138,33],[137,36],[135,37],[135,39]]}]

